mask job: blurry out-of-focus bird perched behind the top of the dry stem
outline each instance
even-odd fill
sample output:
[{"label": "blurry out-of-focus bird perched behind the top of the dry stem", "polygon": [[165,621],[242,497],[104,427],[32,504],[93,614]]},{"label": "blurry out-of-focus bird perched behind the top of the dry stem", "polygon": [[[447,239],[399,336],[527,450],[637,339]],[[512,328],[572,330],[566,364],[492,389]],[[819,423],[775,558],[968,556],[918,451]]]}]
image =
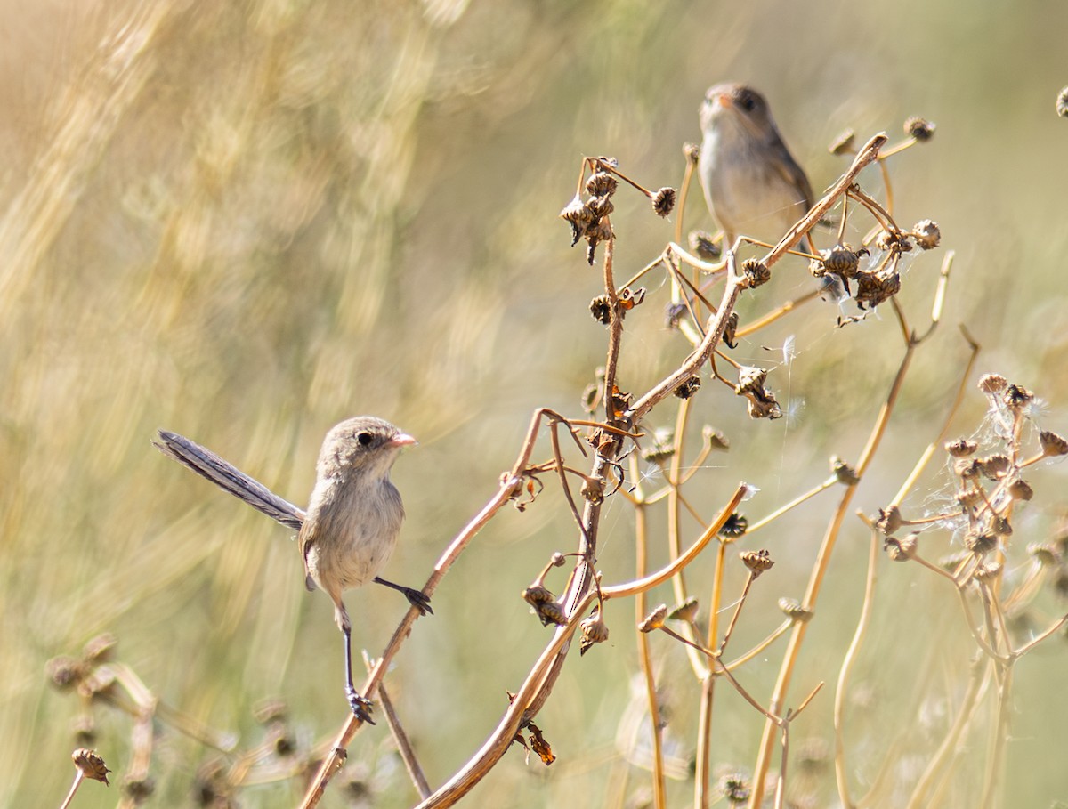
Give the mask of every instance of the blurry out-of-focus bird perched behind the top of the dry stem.
[{"label": "blurry out-of-focus bird perched behind the top of the dry stem", "polygon": [[[764,96],[744,84],[717,84],[705,94],[701,128],[701,186],[724,247],[739,234],[778,241],[812,207],[812,186]],[[811,252],[807,237],[801,245]]]}]

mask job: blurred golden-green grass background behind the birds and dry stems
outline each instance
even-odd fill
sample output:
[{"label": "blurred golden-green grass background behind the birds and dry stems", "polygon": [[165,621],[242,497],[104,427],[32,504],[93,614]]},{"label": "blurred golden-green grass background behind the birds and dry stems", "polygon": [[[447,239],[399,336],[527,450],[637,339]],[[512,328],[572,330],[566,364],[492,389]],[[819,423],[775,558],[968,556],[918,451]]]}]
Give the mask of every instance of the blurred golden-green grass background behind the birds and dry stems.
[{"label": "blurred golden-green grass background behind the birds and dry stems", "polygon": [[[194,438],[303,504],[332,424],[374,413],[402,425],[421,445],[395,467],[409,518],[386,574],[421,584],[494,491],[531,411],[577,413],[602,361],[603,330],[586,312],[600,274],[556,219],[580,157],[613,155],[650,187],[677,185],[712,82],[743,80],[769,97],[817,189],[845,168],[826,150],[842,129],[896,137],[913,114],[938,125],[931,144],[891,168],[898,221],[936,219],[957,251],[945,323],[917,358],[858,506],[882,505],[930,440],[962,367],[958,321],[984,344],[980,368],[1035,388],[1052,402],[1048,426],[1063,429],[1068,122],[1053,105],[1068,83],[1065,4],[53,0],[3,2],[0,14],[4,805],[62,797],[78,707],[48,687],[44,666],[101,631],[161,700],[240,732],[242,745],[256,737],[252,705],[268,696],[288,701],[304,742],[334,730],[345,705],[329,601],[304,593],[284,529],[159,456],[155,429]],[[644,200],[617,199],[625,277],[673,224]],[[710,226],[700,195],[687,220]],[[940,258],[917,259],[906,281],[917,324]],[[794,279],[780,273],[775,294],[811,284],[800,267]],[[686,353],[663,329],[663,292],[651,289],[627,320],[623,379],[635,392]],[[739,479],[761,489],[749,504],[758,515],[822,479],[829,455],[860,451],[901,349],[892,319],[834,331],[836,314],[810,307],[739,349],[775,362],[761,346],[796,335],[798,358],[772,384],[794,410],[804,402],[798,417],[750,424],[738,401],[703,392],[703,418],[735,441],[713,459],[726,467],[707,473],[706,517]],[[978,397],[965,410],[961,423],[974,424]],[[1039,491],[1036,513],[1054,515],[1054,488]],[[396,665],[394,699],[433,783],[481,744],[546,638],[517,594],[574,543],[562,506],[547,492],[498,518]],[[778,623],[779,596],[800,597],[824,519],[826,507],[806,506],[788,536],[760,537],[779,566],[739,649]],[[601,565],[618,581],[632,571],[624,504],[604,527]],[[866,537],[859,524],[850,532],[831,569],[839,584],[820,604],[849,618],[814,622],[798,698],[834,679],[852,631]],[[970,643],[949,593],[906,566],[882,575],[864,664],[871,703],[853,735],[861,780],[875,777],[902,715],[927,715],[911,678],[959,675]],[[404,603],[384,591],[347,601],[357,643],[374,653]],[[549,806],[579,794],[599,805],[613,794],[634,670],[628,609],[610,609],[610,644],[568,663],[539,717],[557,763],[509,755],[476,799]],[[1068,799],[1063,745],[1050,735],[1068,719],[1057,644],[1021,664],[1011,805]],[[661,650],[665,673],[678,671],[669,691],[691,698],[680,650]],[[772,654],[748,670],[755,693],[776,669]],[[829,741],[830,704],[828,692],[795,732]],[[713,757],[748,767],[760,725],[733,708]],[[905,728],[902,789],[947,710],[921,708],[931,727]],[[669,730],[684,760],[690,719],[680,709]],[[128,732],[117,715],[100,727],[96,746],[116,774]],[[376,805],[411,804],[386,740],[380,728],[361,734],[348,768],[370,777]],[[202,752],[164,735],[157,805],[189,802]],[[829,771],[812,777],[829,800]],[[673,805],[686,805],[690,784],[672,789]],[[289,806],[299,792],[266,787],[246,802]],[[968,794],[952,805],[969,806]],[[87,788],[76,805],[114,799]],[[332,794],[327,805],[343,804]]]}]

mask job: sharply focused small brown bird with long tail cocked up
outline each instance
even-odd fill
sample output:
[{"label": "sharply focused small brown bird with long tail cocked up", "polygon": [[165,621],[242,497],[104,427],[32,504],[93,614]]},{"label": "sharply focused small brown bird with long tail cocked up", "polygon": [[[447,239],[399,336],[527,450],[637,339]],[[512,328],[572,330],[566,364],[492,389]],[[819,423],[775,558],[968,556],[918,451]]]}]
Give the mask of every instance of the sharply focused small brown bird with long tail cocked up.
[{"label": "sharply focused small brown bird with long tail cocked up", "polygon": [[390,469],[400,448],[415,440],[373,416],[336,425],[323,442],[315,488],[308,510],[302,511],[200,444],[166,430],[159,431],[159,438],[156,446],[164,455],[299,532],[308,589],[320,587],[331,598],[334,620],[345,635],[345,696],[357,716],[374,724],[371,702],[352,684],[352,624],[342,596],[374,581],[403,592],[423,615],[434,612],[420,590],[377,575],[393,553],[404,521],[404,505],[390,482]]}]

